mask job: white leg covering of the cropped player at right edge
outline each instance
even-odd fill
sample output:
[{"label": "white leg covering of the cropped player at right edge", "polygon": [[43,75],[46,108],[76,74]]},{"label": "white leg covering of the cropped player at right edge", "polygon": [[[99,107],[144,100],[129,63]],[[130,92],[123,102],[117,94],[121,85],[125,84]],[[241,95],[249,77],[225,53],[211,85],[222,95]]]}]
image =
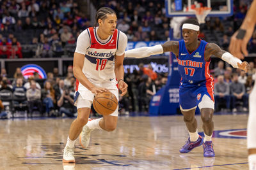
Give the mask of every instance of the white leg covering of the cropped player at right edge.
[{"label": "white leg covering of the cropped player at right edge", "polygon": [[256,148],[256,83],[249,97],[249,117],[247,124],[247,148]]}]

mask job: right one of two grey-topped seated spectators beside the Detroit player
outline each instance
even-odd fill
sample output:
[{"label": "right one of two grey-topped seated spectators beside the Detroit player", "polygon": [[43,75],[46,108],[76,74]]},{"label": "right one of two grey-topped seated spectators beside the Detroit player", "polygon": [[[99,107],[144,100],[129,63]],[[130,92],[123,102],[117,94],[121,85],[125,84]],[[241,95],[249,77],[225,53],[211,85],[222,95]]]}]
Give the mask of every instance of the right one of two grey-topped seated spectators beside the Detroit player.
[{"label": "right one of two grey-topped seated spectators beside the Detroit player", "polygon": [[238,81],[237,73],[233,74],[232,83],[230,83],[230,94],[232,100],[232,111],[236,112],[236,101],[243,101],[243,111],[247,111],[248,107],[248,98],[245,95],[245,87],[242,83]]}]

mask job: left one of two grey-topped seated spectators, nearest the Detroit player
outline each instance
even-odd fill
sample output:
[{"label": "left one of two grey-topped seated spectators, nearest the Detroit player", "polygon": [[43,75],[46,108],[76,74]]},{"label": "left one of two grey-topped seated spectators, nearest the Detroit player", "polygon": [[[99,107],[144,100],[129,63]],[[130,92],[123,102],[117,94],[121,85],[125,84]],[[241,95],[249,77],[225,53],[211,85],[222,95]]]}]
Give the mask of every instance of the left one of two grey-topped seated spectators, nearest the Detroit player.
[{"label": "left one of two grey-topped seated spectators, nearest the Detroit player", "polygon": [[215,109],[220,110],[220,103],[225,101],[226,108],[230,110],[230,95],[229,95],[229,85],[224,81],[224,76],[218,76],[218,82],[214,85],[214,99],[215,99]]}]

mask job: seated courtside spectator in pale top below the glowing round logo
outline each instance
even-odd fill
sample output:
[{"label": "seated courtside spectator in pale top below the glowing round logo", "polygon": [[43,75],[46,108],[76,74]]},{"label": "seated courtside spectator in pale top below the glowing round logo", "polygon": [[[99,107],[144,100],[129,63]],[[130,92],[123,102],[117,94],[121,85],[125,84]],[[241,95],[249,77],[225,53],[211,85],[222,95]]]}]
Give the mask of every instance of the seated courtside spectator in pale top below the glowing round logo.
[{"label": "seated courtside spectator in pale top below the glowing round logo", "polygon": [[32,114],[33,108],[36,106],[42,114],[41,90],[36,88],[35,81],[31,81],[31,88],[27,90],[26,97],[29,113]]}]

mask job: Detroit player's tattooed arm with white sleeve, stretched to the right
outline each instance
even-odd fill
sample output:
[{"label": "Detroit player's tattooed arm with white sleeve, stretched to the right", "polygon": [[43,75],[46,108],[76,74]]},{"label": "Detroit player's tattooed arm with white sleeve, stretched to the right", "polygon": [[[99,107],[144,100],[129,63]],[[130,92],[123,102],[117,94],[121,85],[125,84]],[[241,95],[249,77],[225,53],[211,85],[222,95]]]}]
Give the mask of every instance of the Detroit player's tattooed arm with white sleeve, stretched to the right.
[{"label": "Detroit player's tattooed arm with white sleeve, stretched to the right", "polygon": [[250,66],[248,62],[244,61],[242,62],[237,57],[234,57],[229,52],[226,52],[225,50],[221,50],[220,46],[214,44],[214,43],[208,43],[205,47],[205,60],[209,60],[211,55],[215,55],[216,57],[225,60],[228,64],[230,64],[234,68],[239,68],[244,71],[249,70]]}]

